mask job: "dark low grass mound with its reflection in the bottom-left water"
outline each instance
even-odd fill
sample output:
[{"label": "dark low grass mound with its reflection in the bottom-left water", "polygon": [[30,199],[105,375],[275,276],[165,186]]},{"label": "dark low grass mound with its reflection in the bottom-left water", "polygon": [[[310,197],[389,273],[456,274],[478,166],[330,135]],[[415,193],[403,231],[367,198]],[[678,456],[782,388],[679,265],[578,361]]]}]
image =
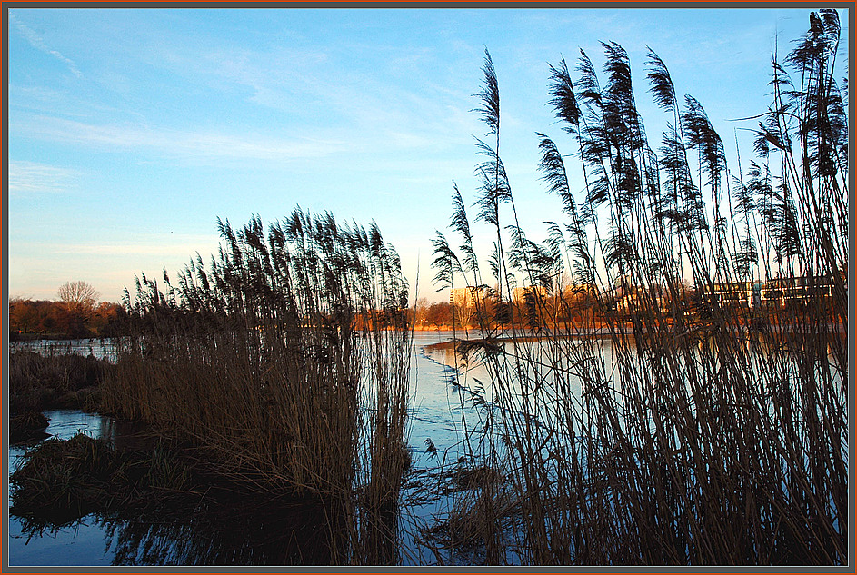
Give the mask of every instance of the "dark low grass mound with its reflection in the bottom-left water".
[{"label": "dark low grass mound with its reflection in the bottom-left water", "polygon": [[318,496],[248,491],[190,446],[140,439],[145,448],[129,449],[78,434],[28,451],[10,481],[25,536],[95,522],[115,565],[334,561]]}]

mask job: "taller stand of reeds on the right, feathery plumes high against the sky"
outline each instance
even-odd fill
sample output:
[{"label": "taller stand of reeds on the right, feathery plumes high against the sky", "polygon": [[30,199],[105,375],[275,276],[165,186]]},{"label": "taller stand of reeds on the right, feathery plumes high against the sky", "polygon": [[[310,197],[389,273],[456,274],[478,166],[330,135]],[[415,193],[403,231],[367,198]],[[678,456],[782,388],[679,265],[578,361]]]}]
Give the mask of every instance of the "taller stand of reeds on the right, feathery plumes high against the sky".
[{"label": "taller stand of reeds on the right, feathery plumes high against the sky", "polygon": [[[552,66],[551,104],[580,168],[573,173],[540,134],[540,169],[567,218],[550,223],[543,243],[517,223],[486,59],[481,112],[497,138],[480,144],[489,159],[479,166],[477,219],[495,236],[492,279],[483,280],[457,189],[451,227],[461,250],[440,233],[433,241],[437,282],[496,285],[493,301],[473,302],[485,344],[468,351],[481,352],[499,409],[485,411],[484,440],[467,446],[507,474],[515,503],[504,505],[506,493],[490,483],[470,492],[469,519],[488,526],[483,560],[513,557],[512,548],[493,548],[510,531],[516,557],[533,564],[846,560],[847,124],[833,77],[838,41],[838,15],[822,10],[785,63],[775,58],[774,103],[744,175],[729,172],[702,105],[678,101],[654,53],[651,91],[672,118],[656,151],[621,46],[604,45],[604,83],[583,53],[576,81],[564,62]],[[573,177],[582,178],[583,203]],[[706,295],[724,283],[793,277],[829,292],[810,289],[771,307]],[[497,353],[492,306],[508,305],[516,282],[534,286],[520,314],[542,337],[521,337],[513,322]],[[569,283],[576,295],[563,289]],[[562,337],[596,328],[610,335],[609,353],[594,338]]]}]

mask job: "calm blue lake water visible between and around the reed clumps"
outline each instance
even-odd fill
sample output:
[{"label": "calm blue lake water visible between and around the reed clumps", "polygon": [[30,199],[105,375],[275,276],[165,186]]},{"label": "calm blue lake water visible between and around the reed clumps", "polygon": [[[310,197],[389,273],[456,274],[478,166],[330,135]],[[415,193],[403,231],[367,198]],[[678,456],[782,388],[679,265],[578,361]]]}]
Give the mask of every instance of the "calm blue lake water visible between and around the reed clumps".
[{"label": "calm blue lake water visible between and around the reed clumps", "polygon": [[[451,338],[451,332],[414,333],[410,382],[413,399],[409,419],[409,446],[414,464],[405,478],[398,521],[400,562],[404,565],[467,565],[478,563],[480,559],[478,549],[441,549],[437,555],[435,550],[428,550],[421,544],[421,529],[432,527],[436,519],[447,517],[456,502],[466,497],[461,492],[450,492],[448,471],[469,452],[479,452],[475,443],[484,438],[479,433],[480,423],[497,409],[484,365],[477,360],[464,364],[452,345],[443,344]],[[44,344],[39,347],[38,343],[29,343],[27,347],[42,352],[49,350]],[[63,344],[67,349],[69,342]],[[97,340],[72,342],[72,345],[84,354],[91,352],[96,357],[110,357],[110,346]],[[605,362],[605,373],[612,377],[611,343],[594,342],[593,345]],[[46,431],[61,439],[70,438],[78,431],[94,437],[118,437],[115,422],[104,416],[80,411],[48,411],[45,415],[50,419]],[[464,441],[470,441],[468,449]],[[10,449],[10,470],[15,469],[23,453],[22,448]],[[439,494],[444,491],[445,494]],[[15,567],[294,562],[291,555],[283,555],[284,541],[276,534],[294,531],[294,520],[303,520],[301,517],[287,518],[292,522],[284,523],[283,518],[242,519],[235,515],[222,521],[219,518],[223,514],[223,510],[200,510],[199,517],[171,526],[87,516],[61,529],[40,533],[25,532],[21,521],[11,518],[7,530],[9,562]],[[241,528],[234,527],[238,524],[236,521],[244,521],[240,523]],[[236,531],[242,531],[243,540],[234,540]],[[512,550],[506,560],[511,564],[521,562]]]}]

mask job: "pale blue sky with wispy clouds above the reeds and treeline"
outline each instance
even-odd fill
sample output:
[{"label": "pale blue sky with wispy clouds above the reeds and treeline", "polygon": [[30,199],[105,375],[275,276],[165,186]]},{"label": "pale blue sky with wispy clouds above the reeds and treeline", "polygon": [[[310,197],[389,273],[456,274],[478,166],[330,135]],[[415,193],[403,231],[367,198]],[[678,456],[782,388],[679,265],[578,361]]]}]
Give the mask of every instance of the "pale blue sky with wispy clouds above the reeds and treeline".
[{"label": "pale blue sky with wispy clouds above the reeds and treeline", "polygon": [[[737,164],[768,105],[772,51],[807,8],[11,8],[6,293],[55,299],[84,280],[118,302],[135,275],[210,260],[217,218],[284,219],[300,205],[378,224],[414,293],[432,301],[431,238],[453,182],[473,203],[486,129],[473,109],[487,49],[500,85],[501,156],[523,228],[560,216],[537,170],[537,132],[573,142],[547,104],[548,64],[601,41],[628,52],[653,144],[669,119],[646,49],[692,94]],[[847,11],[841,10],[847,74]],[[574,76],[575,74],[573,74]],[[603,75],[602,75],[603,77]],[[734,169],[733,165],[730,166]],[[475,213],[475,209],[473,209]],[[479,233],[479,226],[474,230]],[[417,283],[418,278],[418,283]]]}]

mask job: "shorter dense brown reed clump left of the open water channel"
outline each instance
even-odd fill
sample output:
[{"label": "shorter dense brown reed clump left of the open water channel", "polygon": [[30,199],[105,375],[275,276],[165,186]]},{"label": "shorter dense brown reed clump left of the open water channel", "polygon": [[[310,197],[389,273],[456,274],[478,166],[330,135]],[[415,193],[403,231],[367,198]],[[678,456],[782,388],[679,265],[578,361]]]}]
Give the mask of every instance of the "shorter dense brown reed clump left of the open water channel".
[{"label": "shorter dense brown reed clump left of the open water channel", "polygon": [[209,266],[143,276],[126,298],[106,408],[210,450],[247,489],[317,494],[333,562],[394,560],[373,553],[408,464],[398,256],[374,225],[330,214],[220,231]]}]

